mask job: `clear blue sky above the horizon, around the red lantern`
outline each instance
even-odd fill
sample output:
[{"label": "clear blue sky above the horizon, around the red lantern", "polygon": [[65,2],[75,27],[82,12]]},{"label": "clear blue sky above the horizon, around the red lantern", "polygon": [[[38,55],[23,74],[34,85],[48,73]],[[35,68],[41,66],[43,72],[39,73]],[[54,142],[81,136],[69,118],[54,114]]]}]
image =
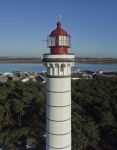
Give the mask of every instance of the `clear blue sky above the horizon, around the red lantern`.
[{"label": "clear blue sky above the horizon, around the red lantern", "polygon": [[0,0],[0,56],[41,56],[57,15],[70,32],[70,52],[117,57],[117,0]]}]

